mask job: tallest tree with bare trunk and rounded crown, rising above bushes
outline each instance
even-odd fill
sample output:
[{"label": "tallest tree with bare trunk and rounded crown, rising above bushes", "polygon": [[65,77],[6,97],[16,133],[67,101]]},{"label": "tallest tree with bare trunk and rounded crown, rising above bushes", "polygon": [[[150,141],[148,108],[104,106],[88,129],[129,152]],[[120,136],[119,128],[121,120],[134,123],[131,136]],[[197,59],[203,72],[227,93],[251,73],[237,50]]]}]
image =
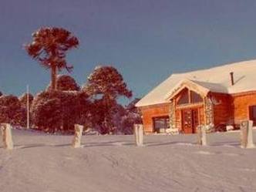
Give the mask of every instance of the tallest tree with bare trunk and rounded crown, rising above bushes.
[{"label": "tallest tree with bare trunk and rounded crown, rising above bushes", "polygon": [[51,69],[51,88],[56,89],[57,70],[72,70],[66,62],[66,52],[76,48],[79,40],[62,28],[41,28],[32,34],[32,42],[25,45],[29,56],[46,69]]}]

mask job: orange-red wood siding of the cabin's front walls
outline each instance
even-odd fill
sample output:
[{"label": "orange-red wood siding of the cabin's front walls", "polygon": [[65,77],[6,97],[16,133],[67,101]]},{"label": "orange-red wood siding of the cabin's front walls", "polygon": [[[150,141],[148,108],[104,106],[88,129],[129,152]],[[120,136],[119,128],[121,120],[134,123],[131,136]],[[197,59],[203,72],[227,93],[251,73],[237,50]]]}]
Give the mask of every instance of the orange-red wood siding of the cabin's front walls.
[{"label": "orange-red wood siding of the cabin's front walls", "polygon": [[[249,106],[256,105],[256,92],[239,93],[228,95],[224,93],[210,93],[215,98],[214,125],[221,123],[240,123],[241,120],[249,119]],[[193,106],[185,106],[193,107]],[[181,109],[175,112],[175,126],[181,129]],[[204,106],[199,106],[200,124],[204,124]],[[143,115],[145,132],[153,132],[153,117],[169,116],[170,103],[140,107]]]}]

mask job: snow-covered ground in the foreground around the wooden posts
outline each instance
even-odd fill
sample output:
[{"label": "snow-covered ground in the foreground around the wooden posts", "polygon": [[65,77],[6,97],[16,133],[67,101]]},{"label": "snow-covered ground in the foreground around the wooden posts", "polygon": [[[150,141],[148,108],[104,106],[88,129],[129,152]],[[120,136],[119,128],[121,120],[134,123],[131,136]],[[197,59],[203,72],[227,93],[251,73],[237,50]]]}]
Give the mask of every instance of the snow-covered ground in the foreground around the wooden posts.
[{"label": "snow-covered ground in the foreground around the wooden posts", "polygon": [[[196,135],[72,136],[14,130],[15,150],[0,145],[1,192],[256,191],[256,149],[239,147],[239,133]],[[254,130],[254,139],[256,133]]]}]

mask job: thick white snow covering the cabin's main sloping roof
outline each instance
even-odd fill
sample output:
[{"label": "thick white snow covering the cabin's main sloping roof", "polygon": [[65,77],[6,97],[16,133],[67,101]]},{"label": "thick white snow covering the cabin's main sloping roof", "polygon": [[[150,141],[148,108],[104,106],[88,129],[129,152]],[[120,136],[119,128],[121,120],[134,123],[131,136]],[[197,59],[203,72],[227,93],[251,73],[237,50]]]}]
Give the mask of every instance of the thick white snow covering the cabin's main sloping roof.
[{"label": "thick white snow covering the cabin's main sloping roof", "polygon": [[[234,86],[231,85],[230,72],[234,72]],[[214,93],[231,94],[256,90],[256,59],[234,62],[210,69],[173,74],[140,99],[136,106],[168,103],[167,95],[184,79],[210,89]]]}]

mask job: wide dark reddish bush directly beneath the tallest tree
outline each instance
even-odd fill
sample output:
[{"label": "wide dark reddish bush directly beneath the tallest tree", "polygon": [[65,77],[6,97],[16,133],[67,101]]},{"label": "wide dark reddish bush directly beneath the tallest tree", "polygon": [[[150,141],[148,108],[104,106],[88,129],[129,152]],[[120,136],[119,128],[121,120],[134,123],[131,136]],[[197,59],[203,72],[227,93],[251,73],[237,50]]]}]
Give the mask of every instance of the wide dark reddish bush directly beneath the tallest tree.
[{"label": "wide dark reddish bush directly beneath the tallest tree", "polygon": [[73,131],[74,124],[86,123],[89,102],[85,93],[44,91],[32,103],[32,123],[47,132]]}]

